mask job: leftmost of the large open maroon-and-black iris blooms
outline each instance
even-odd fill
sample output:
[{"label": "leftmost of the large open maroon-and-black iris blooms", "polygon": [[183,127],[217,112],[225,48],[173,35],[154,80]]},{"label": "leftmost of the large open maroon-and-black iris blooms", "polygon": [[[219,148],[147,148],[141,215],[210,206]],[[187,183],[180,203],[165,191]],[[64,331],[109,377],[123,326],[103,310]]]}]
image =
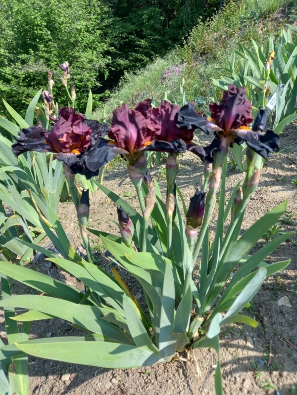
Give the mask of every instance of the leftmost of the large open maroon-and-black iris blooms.
[{"label": "leftmost of the large open maroon-and-black iris blooms", "polygon": [[50,131],[38,126],[22,129],[11,146],[13,153],[18,156],[27,151],[53,152],[66,165],[74,164],[108,131],[106,124],[87,120],[69,107],[61,108],[59,117],[51,120],[55,124]]}]

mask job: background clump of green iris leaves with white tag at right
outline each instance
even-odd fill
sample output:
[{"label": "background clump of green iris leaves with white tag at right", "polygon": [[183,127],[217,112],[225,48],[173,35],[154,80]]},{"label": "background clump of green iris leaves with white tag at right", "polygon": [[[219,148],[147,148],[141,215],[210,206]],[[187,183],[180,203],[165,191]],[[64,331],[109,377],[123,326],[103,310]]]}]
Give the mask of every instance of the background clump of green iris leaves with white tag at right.
[{"label": "background clump of green iris leaves with white tag at right", "polygon": [[[286,125],[297,119],[297,36],[292,38],[290,30],[283,29],[276,44],[270,36],[265,51],[253,40],[252,44],[254,52],[239,42],[239,50],[234,50],[229,68],[220,69],[229,76],[212,79],[212,83],[214,88],[220,89],[226,89],[228,84],[245,86],[253,115],[256,115],[259,105],[265,107],[267,104],[271,123],[274,115],[273,130],[279,134]],[[265,73],[267,64],[268,74]],[[217,100],[215,92],[213,99]],[[240,171],[246,170],[243,163],[245,153],[245,144],[232,148]]]}]

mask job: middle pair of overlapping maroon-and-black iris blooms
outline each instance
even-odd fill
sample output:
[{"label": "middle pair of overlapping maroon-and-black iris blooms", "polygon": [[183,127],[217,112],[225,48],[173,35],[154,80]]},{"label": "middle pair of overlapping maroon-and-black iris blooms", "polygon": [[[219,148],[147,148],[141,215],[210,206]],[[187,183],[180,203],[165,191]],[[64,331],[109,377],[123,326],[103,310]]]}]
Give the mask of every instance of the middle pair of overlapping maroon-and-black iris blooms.
[{"label": "middle pair of overlapping maroon-and-black iris blooms", "polygon": [[92,169],[93,173],[98,173],[101,166],[119,154],[134,165],[144,151],[182,153],[189,149],[204,160],[203,148],[191,142],[195,128],[188,130],[176,126],[179,111],[179,106],[165,100],[154,108],[150,99],[139,103],[134,110],[127,104],[117,107],[108,131],[110,140],[99,138],[78,162],[68,162],[70,171],[86,174],[86,169]]}]

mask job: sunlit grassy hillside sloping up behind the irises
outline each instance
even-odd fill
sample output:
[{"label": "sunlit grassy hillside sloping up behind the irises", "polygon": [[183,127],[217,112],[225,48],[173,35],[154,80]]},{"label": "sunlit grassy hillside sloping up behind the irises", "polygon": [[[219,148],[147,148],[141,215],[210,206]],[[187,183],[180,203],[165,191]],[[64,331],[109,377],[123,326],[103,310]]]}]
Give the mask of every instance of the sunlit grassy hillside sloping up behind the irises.
[{"label": "sunlit grassy hillside sloping up behind the irises", "polygon": [[277,38],[288,22],[288,14],[297,12],[294,5],[292,0],[229,2],[211,19],[198,21],[183,47],[176,47],[136,73],[127,73],[94,117],[106,115],[108,120],[115,107],[123,103],[133,107],[146,96],[153,96],[158,104],[165,92],[169,100],[176,98],[180,102],[183,78],[187,100],[195,100],[205,108],[212,93],[210,78],[222,74],[221,68],[228,65],[238,40],[251,47],[251,39],[261,45],[271,33]]}]

